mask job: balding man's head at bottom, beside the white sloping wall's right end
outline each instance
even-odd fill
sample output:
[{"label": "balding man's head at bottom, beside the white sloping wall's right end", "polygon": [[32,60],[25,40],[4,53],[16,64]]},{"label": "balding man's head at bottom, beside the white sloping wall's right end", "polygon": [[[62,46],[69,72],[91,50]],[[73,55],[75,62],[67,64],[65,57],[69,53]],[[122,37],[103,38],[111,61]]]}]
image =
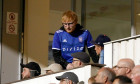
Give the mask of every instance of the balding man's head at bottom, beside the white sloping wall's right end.
[{"label": "balding man's head at bottom, beside the white sloping wall's right end", "polygon": [[115,77],[116,77],[116,74],[112,69],[103,67],[98,71],[95,77],[95,82],[103,83],[103,84],[111,84],[112,80]]}]

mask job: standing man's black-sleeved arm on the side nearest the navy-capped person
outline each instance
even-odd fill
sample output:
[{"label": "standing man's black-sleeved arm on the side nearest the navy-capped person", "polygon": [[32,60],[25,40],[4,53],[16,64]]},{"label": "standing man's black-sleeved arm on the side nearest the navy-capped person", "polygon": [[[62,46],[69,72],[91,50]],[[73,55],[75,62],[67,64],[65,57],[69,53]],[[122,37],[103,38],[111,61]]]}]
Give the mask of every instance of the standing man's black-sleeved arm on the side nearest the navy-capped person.
[{"label": "standing man's black-sleeved arm on the side nearest the navy-capped person", "polygon": [[99,61],[99,56],[96,54],[96,51],[95,51],[95,46],[94,47],[91,47],[91,48],[88,48],[88,52],[90,54],[90,57],[92,58],[92,61],[94,63],[98,63]]}]

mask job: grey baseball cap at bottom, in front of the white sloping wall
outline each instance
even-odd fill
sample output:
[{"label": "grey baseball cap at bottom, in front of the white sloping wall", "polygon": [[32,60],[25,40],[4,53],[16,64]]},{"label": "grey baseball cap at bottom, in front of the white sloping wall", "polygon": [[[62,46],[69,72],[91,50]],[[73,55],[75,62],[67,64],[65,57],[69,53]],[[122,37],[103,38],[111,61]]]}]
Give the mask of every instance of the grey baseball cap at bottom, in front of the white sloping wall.
[{"label": "grey baseball cap at bottom, in front of the white sloping wall", "polygon": [[56,79],[57,80],[69,79],[69,80],[71,80],[74,83],[78,83],[79,82],[78,76],[75,73],[73,73],[73,72],[66,72],[66,73],[64,73],[61,76],[56,76]]}]

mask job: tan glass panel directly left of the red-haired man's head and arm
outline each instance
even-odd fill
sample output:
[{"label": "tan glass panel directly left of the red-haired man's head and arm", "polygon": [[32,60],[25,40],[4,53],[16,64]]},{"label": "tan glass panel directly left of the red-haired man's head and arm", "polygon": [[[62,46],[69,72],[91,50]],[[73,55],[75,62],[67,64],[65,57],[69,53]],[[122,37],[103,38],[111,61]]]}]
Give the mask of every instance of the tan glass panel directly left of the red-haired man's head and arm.
[{"label": "tan glass panel directly left of the red-haired man's head and arm", "polygon": [[50,0],[50,12],[49,12],[49,53],[48,53],[48,65],[52,64],[53,56],[52,56],[52,41],[53,34],[57,31],[61,26],[61,16],[64,11],[71,9],[71,0]]}]

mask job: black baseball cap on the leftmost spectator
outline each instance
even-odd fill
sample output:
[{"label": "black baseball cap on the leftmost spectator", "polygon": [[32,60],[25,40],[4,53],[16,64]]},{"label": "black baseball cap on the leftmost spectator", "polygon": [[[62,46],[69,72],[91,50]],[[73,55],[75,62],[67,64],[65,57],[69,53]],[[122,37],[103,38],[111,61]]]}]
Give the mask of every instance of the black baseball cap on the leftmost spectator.
[{"label": "black baseball cap on the leftmost spectator", "polygon": [[22,68],[26,67],[26,68],[29,68],[31,70],[36,70],[36,73],[35,73],[35,76],[38,76],[41,74],[41,68],[39,66],[38,63],[36,62],[29,62],[27,64],[20,64]]}]

